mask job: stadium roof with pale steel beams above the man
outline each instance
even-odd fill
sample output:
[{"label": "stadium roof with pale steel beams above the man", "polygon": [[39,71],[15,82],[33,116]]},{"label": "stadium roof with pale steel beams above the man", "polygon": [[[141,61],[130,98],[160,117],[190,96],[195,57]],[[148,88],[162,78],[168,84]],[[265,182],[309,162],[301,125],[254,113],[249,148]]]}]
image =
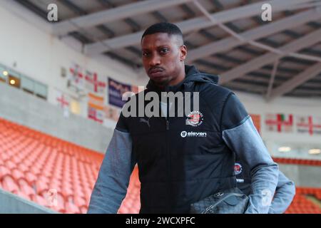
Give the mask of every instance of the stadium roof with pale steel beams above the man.
[{"label": "stadium roof with pale steel beams above the man", "polygon": [[[321,97],[321,0],[14,0],[47,21],[52,32],[83,43],[88,56],[107,55],[142,68],[140,40],[151,24],[177,24],[188,46],[187,63],[220,75],[233,90]],[[270,3],[272,21],[261,6]]]}]

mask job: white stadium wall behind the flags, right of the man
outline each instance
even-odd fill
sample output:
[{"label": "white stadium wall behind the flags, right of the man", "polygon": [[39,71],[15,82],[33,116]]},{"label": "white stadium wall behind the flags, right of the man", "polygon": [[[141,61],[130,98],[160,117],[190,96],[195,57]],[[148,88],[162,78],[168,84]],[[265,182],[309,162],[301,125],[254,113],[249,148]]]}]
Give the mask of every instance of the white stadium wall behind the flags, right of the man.
[{"label": "white stadium wall behind the flags, right of the man", "polygon": [[[261,95],[236,92],[245,108],[250,114],[260,115],[260,135],[262,136],[270,153],[275,157],[296,157],[302,159],[321,160],[321,155],[310,155],[308,150],[321,149],[321,134],[299,133],[297,118],[300,116],[312,116],[321,118],[321,100],[313,98],[289,98],[282,97],[267,103]],[[265,120],[267,114],[282,113],[292,115],[292,129],[289,132],[268,130]],[[320,125],[321,123],[319,123]],[[279,147],[290,147],[290,151],[279,152]]]}]

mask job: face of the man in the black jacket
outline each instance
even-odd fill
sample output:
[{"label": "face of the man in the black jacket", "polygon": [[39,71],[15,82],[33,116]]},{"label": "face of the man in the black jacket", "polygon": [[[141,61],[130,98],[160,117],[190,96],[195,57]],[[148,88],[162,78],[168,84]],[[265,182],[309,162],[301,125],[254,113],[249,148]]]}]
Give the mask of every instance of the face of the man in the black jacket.
[{"label": "face of the man in the black jacket", "polygon": [[146,35],[141,41],[141,49],[145,71],[159,86],[170,85],[184,68],[186,47],[175,35]]}]

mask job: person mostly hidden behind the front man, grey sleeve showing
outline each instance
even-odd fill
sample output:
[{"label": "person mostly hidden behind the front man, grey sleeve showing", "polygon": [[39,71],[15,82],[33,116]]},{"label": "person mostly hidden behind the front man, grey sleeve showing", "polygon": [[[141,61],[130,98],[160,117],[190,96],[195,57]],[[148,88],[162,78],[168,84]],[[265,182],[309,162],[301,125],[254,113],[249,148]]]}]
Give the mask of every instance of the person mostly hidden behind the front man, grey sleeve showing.
[{"label": "person mostly hidden behind the front man, grey sleeve showing", "polygon": [[[236,181],[238,188],[242,190],[245,195],[251,194],[251,177],[250,169],[245,162],[241,162],[236,157],[234,166]],[[295,196],[295,183],[289,180],[281,171],[277,180],[277,187],[275,195],[270,205],[269,214],[282,214],[290,206],[293,197]]]}]

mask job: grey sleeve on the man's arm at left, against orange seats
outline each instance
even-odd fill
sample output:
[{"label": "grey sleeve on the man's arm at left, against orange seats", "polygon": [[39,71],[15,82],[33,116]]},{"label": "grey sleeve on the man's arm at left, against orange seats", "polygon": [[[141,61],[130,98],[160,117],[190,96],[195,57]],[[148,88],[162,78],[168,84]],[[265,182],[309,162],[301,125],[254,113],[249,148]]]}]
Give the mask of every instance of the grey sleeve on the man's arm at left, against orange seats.
[{"label": "grey sleeve on the man's arm at left, against orange seats", "polygon": [[130,133],[114,130],[88,207],[90,214],[118,212],[126,197],[131,172],[136,164],[132,156]]}]

